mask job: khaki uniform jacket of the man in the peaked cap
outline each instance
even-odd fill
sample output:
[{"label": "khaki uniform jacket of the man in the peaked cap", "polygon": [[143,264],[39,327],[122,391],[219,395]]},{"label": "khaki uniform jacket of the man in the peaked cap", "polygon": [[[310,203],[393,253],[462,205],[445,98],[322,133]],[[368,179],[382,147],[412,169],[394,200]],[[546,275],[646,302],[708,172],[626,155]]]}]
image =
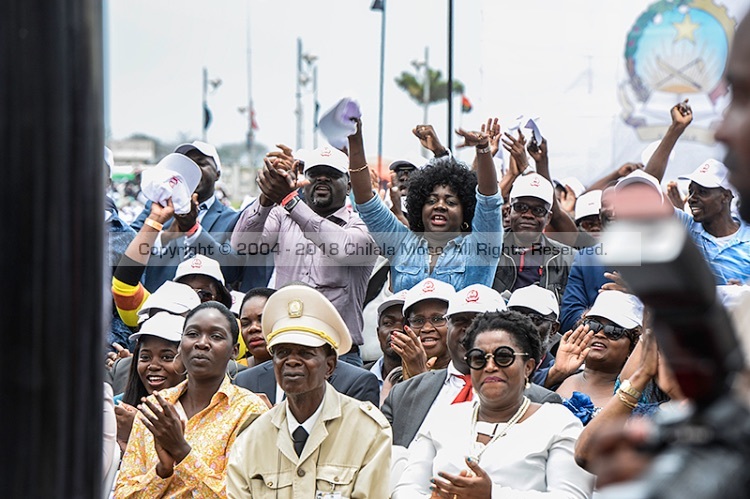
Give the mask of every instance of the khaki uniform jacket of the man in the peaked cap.
[{"label": "khaki uniform jacket of the man in the peaked cap", "polygon": [[230,498],[314,499],[316,491],[342,499],[389,497],[391,427],[375,406],[327,385],[320,417],[297,457],[287,403],[237,437],[227,468]]}]

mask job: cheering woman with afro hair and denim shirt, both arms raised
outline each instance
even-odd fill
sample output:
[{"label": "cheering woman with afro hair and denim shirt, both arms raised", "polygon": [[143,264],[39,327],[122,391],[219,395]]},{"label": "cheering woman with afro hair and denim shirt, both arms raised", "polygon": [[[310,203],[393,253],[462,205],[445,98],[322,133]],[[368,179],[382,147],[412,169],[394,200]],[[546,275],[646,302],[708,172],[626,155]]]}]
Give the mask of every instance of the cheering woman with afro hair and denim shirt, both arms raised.
[{"label": "cheering woman with afro hair and denim shirt, both arms raised", "polygon": [[[420,127],[427,126],[418,126],[415,133]],[[428,277],[457,290],[470,284],[492,286],[503,246],[503,199],[490,136],[484,131],[457,133],[465,140],[462,145],[476,147],[476,174],[452,157],[437,159],[413,174],[406,198],[410,228],[372,192],[359,120],[349,136],[349,174],[357,211],[390,262],[394,293]]]}]

